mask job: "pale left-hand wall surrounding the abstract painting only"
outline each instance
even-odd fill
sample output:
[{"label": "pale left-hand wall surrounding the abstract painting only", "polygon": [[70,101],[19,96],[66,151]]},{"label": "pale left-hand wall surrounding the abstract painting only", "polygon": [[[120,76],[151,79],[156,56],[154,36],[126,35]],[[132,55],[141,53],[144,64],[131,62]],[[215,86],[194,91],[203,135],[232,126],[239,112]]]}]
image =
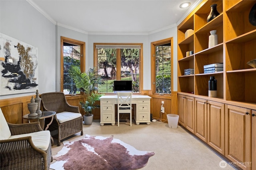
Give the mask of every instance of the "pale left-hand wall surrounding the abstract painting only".
[{"label": "pale left-hand wall surrounding the abstract painting only", "polygon": [[[25,0],[0,0],[0,21],[1,33],[38,48],[39,93],[55,91],[55,25]],[[0,99],[35,94],[5,95]]]}]

